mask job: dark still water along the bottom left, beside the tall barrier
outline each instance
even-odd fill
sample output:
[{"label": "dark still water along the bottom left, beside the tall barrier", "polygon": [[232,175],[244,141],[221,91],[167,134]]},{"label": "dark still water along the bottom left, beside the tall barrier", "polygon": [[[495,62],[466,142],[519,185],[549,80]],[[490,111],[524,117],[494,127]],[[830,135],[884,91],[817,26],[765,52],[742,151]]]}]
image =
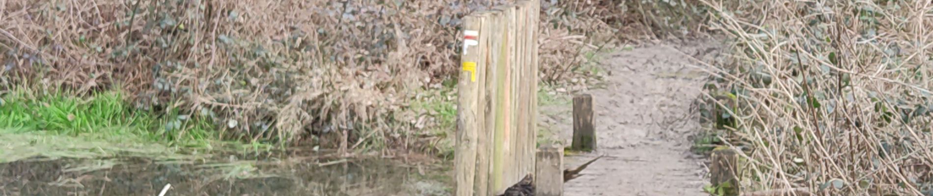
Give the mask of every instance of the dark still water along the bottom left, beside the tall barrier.
[{"label": "dark still water along the bottom left, beside the tall barrier", "polygon": [[0,195],[158,195],[169,183],[166,195],[449,195],[448,170],[387,159],[39,158],[0,164]]}]

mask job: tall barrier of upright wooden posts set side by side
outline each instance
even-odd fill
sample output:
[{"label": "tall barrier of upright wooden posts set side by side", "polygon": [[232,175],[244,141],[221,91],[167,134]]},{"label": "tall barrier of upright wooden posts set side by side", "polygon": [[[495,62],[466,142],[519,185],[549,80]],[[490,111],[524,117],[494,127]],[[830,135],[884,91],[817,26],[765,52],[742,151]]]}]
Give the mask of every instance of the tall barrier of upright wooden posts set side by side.
[{"label": "tall barrier of upright wooden posts set side by side", "polygon": [[538,0],[464,18],[456,195],[497,195],[535,172]]}]

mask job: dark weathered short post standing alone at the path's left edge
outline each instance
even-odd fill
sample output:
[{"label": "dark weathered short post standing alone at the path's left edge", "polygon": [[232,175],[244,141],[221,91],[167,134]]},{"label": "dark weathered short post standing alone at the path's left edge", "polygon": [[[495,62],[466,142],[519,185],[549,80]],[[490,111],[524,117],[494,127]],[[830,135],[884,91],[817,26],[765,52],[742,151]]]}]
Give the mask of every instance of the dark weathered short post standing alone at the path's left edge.
[{"label": "dark weathered short post standing alone at the path's left edge", "polygon": [[592,96],[574,97],[574,140],[572,150],[592,151],[596,149],[596,130],[593,128]]}]

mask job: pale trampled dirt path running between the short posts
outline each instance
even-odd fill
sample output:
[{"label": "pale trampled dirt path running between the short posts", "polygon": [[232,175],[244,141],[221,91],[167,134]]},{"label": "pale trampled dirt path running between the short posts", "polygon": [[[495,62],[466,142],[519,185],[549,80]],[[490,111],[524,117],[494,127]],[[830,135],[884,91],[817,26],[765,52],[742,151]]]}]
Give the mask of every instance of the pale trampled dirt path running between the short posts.
[{"label": "pale trampled dirt path running between the short posts", "polygon": [[[703,160],[689,152],[689,136],[700,129],[691,103],[701,96],[707,77],[684,54],[715,59],[718,48],[710,41],[668,43],[601,60],[606,87],[578,92],[592,95],[598,150],[567,156],[565,168],[606,157],[564,184],[564,195],[707,195]],[[558,130],[565,144],[573,134],[571,110],[542,108],[550,113],[543,114],[543,122]]]}]

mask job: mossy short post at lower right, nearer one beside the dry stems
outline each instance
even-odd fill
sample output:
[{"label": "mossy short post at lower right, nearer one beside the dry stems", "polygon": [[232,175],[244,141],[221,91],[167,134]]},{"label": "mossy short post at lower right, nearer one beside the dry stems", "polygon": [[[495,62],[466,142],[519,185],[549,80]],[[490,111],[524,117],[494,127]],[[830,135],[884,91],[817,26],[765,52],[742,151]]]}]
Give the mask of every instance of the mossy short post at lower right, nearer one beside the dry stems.
[{"label": "mossy short post at lower right, nearer one beside the dry stems", "polygon": [[738,154],[731,149],[717,149],[713,150],[712,159],[709,172],[713,187],[724,191],[720,195],[739,195]]}]

